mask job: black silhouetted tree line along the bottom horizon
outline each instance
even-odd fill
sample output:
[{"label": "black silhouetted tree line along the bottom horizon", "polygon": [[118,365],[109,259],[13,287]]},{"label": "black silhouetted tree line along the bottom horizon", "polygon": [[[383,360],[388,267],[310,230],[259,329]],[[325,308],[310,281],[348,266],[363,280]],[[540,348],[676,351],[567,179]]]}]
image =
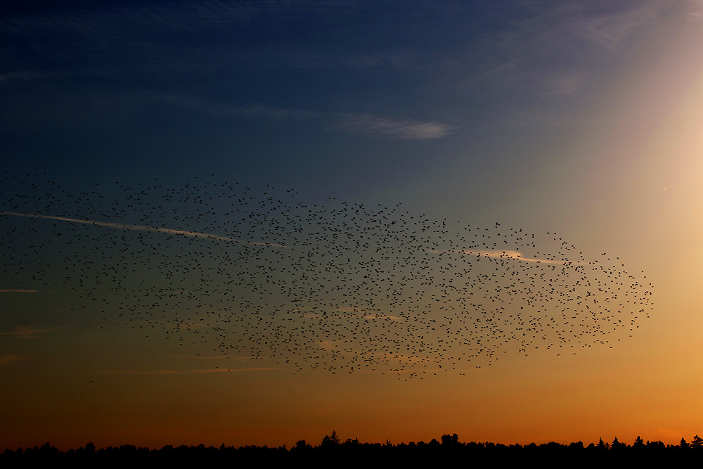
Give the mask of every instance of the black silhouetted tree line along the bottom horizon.
[{"label": "black silhouetted tree line along the bottom horizon", "polygon": [[[597,443],[588,445],[583,442],[572,442],[561,444],[557,442],[530,443],[530,444],[501,444],[493,442],[460,442],[458,435],[442,435],[439,440],[432,439],[430,442],[409,442],[392,444],[389,440],[385,443],[359,442],[358,438],[347,438],[342,441],[337,432],[333,430],[330,435],[325,435],[320,444],[312,445],[304,439],[299,439],[295,446],[290,449],[285,445],[277,447],[269,446],[172,446],[166,445],[161,449],[149,449],[131,444],[122,446],[108,446],[97,449],[93,443],[88,443],[78,449],[60,451],[51,444],[43,446],[27,447],[25,449],[6,449],[0,454],[0,463],[8,463],[16,460],[47,460],[63,459],[65,461],[177,461],[187,463],[191,461],[260,461],[264,459],[275,459],[283,461],[288,458],[317,459],[318,461],[328,461],[329,458],[353,457],[359,455],[363,457],[373,457],[377,461],[384,458],[398,461],[398,458],[407,457],[408,461],[415,461],[423,456],[442,457],[458,460],[461,456],[470,456],[472,461],[488,460],[489,458],[504,459],[524,458],[530,454],[546,455],[560,454],[561,456],[572,456],[575,459],[591,461],[598,457],[630,456],[633,458],[643,456],[650,459],[654,456],[689,456],[696,461],[703,461],[703,439],[698,435],[692,437],[690,442],[681,438],[679,444],[664,444],[660,440],[645,442],[637,437],[632,444],[619,442],[615,438],[612,442],[604,442],[601,438]],[[699,452],[701,451],[701,452]],[[600,455],[600,456],[599,456]],[[589,459],[591,458],[591,459]]]}]

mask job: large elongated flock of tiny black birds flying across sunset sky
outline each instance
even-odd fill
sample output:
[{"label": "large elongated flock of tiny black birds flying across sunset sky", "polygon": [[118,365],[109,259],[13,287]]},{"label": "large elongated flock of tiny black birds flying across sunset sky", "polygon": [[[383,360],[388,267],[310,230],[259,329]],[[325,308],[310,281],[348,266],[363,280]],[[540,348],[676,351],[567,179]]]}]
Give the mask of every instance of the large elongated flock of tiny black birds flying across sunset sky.
[{"label": "large elongated flock of tiny black birds flying across sunset sky", "polygon": [[85,314],[297,371],[413,378],[572,354],[612,346],[652,309],[652,285],[616,257],[400,204],[198,179],[71,193],[6,175],[0,194],[0,290],[70,290]]}]

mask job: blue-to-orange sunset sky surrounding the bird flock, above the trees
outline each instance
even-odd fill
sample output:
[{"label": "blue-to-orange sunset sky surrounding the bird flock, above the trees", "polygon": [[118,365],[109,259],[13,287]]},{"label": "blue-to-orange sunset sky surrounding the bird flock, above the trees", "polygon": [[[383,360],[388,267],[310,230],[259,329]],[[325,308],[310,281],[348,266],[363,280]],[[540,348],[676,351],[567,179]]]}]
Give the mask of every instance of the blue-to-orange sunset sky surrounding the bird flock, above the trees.
[{"label": "blue-to-orange sunset sky surrounding the bird flock, above the trees", "polygon": [[[690,441],[703,432],[701,57],[696,0],[4,2],[0,446],[290,447],[332,430]],[[306,212],[363,205],[375,226],[397,204],[399,223],[510,226],[544,238],[542,255],[557,233],[584,259],[607,253],[646,277],[654,307],[612,344],[512,350],[423,379],[183,346],[119,316],[143,300],[136,283],[78,310],[76,278],[112,265],[104,239],[134,236],[133,255],[167,236],[219,256],[300,247],[254,225],[226,231],[218,204],[235,184],[262,201],[295,193],[285,204]],[[206,196],[217,203],[201,218]],[[25,255],[46,281],[20,271]]]}]

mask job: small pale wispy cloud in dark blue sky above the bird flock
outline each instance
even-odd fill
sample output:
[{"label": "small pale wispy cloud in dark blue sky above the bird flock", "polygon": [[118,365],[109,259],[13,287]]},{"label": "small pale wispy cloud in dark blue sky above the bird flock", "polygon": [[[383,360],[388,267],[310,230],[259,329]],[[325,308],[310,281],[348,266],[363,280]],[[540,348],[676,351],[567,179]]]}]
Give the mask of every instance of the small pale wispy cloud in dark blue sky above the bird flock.
[{"label": "small pale wispy cloud in dark blue sky above the bird flock", "polygon": [[401,140],[441,139],[456,129],[456,127],[441,122],[394,120],[371,114],[347,115],[342,122],[335,124],[333,128]]}]

